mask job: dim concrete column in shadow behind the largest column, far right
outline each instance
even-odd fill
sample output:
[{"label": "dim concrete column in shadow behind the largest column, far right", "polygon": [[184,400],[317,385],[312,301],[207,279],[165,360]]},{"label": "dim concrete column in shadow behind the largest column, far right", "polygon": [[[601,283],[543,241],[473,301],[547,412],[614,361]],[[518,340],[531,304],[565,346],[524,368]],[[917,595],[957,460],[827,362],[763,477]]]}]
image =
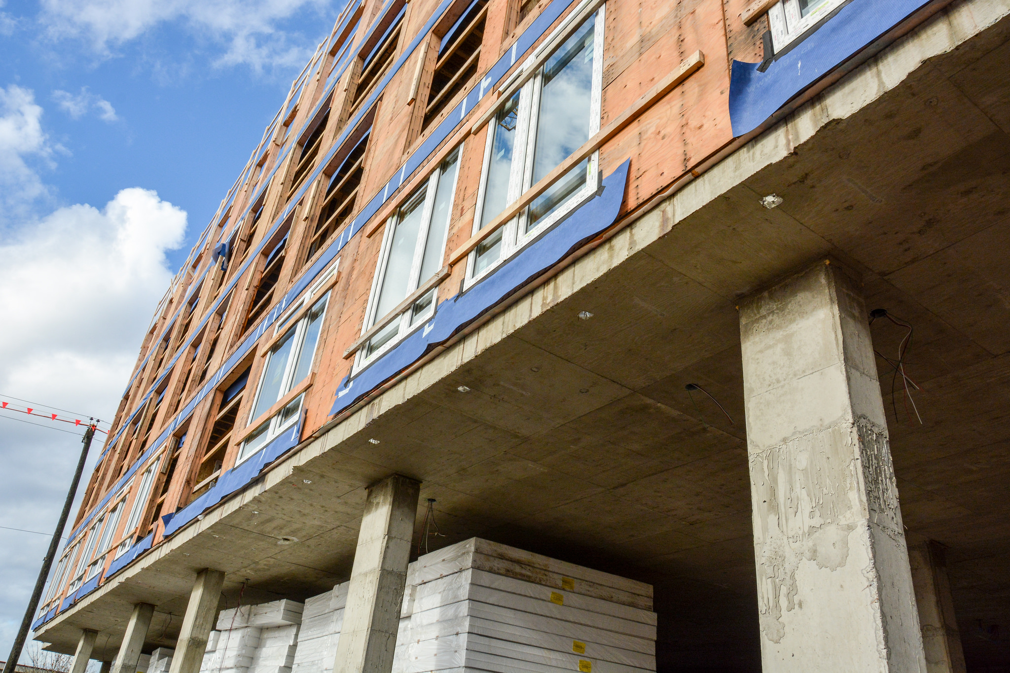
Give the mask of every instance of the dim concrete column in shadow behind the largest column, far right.
[{"label": "dim concrete column in shadow behind the largest column, far right", "polygon": [[953,615],[943,547],[927,540],[908,547],[915,603],[928,673],[965,673],[965,652]]}]

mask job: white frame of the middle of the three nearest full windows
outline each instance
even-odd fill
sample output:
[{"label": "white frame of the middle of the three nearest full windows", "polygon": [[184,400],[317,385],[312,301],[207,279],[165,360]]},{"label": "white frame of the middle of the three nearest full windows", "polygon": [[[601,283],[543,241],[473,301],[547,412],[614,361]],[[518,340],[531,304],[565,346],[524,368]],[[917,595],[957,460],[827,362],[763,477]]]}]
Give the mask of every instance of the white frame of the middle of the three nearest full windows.
[{"label": "white frame of the middle of the three nearest full windows", "polygon": [[[414,291],[416,291],[422,284],[424,284],[428,278],[420,277],[421,274],[421,263],[424,260],[424,250],[427,245],[428,234],[431,231],[431,216],[435,209],[435,196],[438,193],[438,183],[442,178],[442,166],[445,165],[452,157],[456,157],[456,172],[452,177],[452,189],[449,191],[449,214],[448,222],[445,226],[445,231],[442,234],[441,250],[442,258],[445,255],[445,243],[448,241],[448,225],[452,221],[452,204],[456,202],[456,190],[460,186],[460,167],[461,161],[463,160],[463,143],[450,152],[444,159],[438,163],[438,167],[431,172],[428,177],[427,184],[423,188],[418,188],[410,193],[410,195],[404,199],[403,203],[399,208],[396,209],[390,218],[386,221],[386,229],[383,232],[382,248],[379,253],[379,261],[376,265],[376,272],[372,277],[372,292],[369,296],[369,305],[365,313],[365,322],[362,323],[362,334],[364,335],[372,326],[376,324],[376,321],[382,320],[386,316],[376,315],[379,310],[379,294],[382,289],[382,284],[386,279],[387,264],[389,262],[389,255],[393,249],[393,236],[396,233],[396,227],[400,223],[400,213],[403,207],[406,206],[414,195],[418,193],[419,190],[424,189],[424,205],[422,206],[423,211],[421,214],[421,223],[418,225],[419,230],[417,233],[417,241],[414,243],[414,256],[410,263],[410,275],[407,279],[407,294],[404,295],[404,299],[410,297]],[[441,268],[441,265],[439,265]],[[432,288],[431,293],[425,295],[424,297],[419,297],[416,302],[407,308],[402,314],[400,314],[399,321],[400,327],[397,335],[384,343],[382,347],[377,349],[375,352],[368,354],[369,344],[362,344],[362,347],[358,349],[358,353],[355,357],[355,367],[354,373],[358,374],[360,371],[365,369],[368,365],[375,362],[377,359],[382,357],[391,348],[395,347],[396,344],[400,343],[408,336],[416,332],[418,329],[424,326],[424,324],[431,319],[435,313],[435,309],[438,304],[438,288]],[[432,296],[433,295],[433,296]],[[414,316],[414,306],[424,300],[430,298],[430,304],[422,312]],[[396,319],[389,321],[387,325],[396,322]],[[378,336],[378,335],[377,335]]]}]

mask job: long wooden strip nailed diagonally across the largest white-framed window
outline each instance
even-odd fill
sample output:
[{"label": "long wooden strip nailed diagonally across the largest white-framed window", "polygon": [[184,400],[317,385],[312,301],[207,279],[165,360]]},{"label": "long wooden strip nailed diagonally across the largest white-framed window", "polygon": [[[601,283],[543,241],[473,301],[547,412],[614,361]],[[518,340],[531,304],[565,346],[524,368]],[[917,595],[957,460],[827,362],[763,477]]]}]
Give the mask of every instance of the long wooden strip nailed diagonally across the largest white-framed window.
[{"label": "long wooden strip nailed diagonally across the largest white-framed window", "polygon": [[673,73],[661,80],[654,87],[642,94],[638,100],[632,103],[627,109],[617,116],[612,122],[600,129],[593,137],[575,150],[567,159],[559,163],[553,171],[544,176],[536,185],[526,190],[526,192],[505,207],[499,215],[488,223],[483,229],[471,236],[467,242],[458,247],[448,258],[448,264],[454,266],[467,258],[467,255],[476,248],[481,241],[491,236],[512,218],[518,215],[526,206],[533,202],[538,196],[547,191],[559,178],[579,164],[580,161],[600,148],[604,143],[617,135],[628,124],[637,119],[641,113],[652,107],[661,98],[666,96],[675,87],[682,84],[691,75],[696,73],[705,65],[705,54],[700,50],[695,51],[675,70]]}]

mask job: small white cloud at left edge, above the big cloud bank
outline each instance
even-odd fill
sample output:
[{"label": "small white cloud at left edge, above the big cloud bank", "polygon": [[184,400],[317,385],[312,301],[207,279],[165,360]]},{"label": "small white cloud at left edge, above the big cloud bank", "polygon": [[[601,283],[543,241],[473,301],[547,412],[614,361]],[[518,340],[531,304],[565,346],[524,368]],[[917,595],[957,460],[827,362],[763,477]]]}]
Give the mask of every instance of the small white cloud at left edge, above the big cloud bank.
[{"label": "small white cloud at left edge, above the big cloud bank", "polygon": [[30,90],[13,84],[0,88],[0,224],[23,216],[28,204],[47,193],[28,164],[47,163],[53,154],[41,118]]}]

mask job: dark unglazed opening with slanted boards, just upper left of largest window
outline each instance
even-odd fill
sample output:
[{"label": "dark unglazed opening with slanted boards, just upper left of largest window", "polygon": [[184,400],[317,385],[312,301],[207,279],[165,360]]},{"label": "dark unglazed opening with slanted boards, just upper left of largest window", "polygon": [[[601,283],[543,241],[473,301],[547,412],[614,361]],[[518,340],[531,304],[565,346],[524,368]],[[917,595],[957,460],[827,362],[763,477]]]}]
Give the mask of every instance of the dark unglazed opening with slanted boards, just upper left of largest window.
[{"label": "dark unglazed opening with slanted boards, just upper left of largest window", "polygon": [[477,75],[487,16],[488,0],[474,0],[441,38],[422,129],[436,119]]}]

